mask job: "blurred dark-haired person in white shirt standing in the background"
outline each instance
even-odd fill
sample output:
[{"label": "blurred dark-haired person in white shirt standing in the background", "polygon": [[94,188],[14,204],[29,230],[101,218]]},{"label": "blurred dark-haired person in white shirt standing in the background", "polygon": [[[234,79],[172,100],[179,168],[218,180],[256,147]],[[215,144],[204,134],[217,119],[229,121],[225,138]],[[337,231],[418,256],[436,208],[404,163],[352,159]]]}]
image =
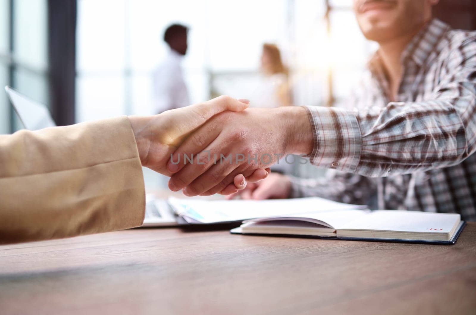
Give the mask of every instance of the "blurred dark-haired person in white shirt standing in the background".
[{"label": "blurred dark-haired person in white shirt standing in the background", "polygon": [[187,53],[188,28],[180,24],[170,25],[164,33],[169,53],[153,74],[155,112],[190,105],[188,89],[183,78],[181,62]]}]

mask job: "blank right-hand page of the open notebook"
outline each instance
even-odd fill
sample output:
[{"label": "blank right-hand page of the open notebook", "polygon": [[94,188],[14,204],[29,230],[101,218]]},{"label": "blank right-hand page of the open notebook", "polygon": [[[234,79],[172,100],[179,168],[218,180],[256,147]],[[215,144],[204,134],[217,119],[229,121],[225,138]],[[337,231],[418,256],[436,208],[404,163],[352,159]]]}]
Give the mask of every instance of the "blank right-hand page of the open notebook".
[{"label": "blank right-hand page of the open notebook", "polygon": [[456,213],[377,210],[337,229],[449,233],[460,220]]}]

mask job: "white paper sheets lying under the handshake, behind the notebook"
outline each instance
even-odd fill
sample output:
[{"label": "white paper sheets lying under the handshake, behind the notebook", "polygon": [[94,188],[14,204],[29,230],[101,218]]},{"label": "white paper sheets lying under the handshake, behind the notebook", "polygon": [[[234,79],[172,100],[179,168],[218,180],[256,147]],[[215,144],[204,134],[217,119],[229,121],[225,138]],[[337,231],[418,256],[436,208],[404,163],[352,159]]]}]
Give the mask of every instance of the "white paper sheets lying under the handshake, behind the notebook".
[{"label": "white paper sheets lying under the handshake, behind the notebook", "polygon": [[318,197],[275,200],[196,200],[169,198],[179,215],[202,223],[239,221],[329,210],[365,208]]}]

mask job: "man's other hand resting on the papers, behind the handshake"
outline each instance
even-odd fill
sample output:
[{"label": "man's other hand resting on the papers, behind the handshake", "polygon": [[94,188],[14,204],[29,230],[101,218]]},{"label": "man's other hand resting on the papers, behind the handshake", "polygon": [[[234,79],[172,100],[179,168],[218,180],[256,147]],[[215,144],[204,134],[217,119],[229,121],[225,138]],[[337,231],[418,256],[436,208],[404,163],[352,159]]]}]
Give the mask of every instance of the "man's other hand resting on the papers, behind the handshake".
[{"label": "man's other hand resting on the papers, behind the handshake", "polygon": [[241,199],[284,199],[291,193],[291,181],[288,176],[279,173],[271,173],[263,181],[250,182],[245,189],[229,195],[227,199],[241,196]]}]

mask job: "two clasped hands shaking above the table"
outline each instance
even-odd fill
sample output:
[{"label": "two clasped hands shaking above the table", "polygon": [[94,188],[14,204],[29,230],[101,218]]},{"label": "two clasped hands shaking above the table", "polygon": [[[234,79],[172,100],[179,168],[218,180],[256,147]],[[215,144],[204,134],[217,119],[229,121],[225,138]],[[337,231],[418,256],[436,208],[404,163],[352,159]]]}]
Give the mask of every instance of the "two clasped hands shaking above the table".
[{"label": "two clasped hands shaking above the table", "polygon": [[302,107],[248,108],[219,96],[154,116],[129,116],[143,166],[171,176],[187,196],[229,195],[268,177],[288,153],[308,154],[313,135]]}]

